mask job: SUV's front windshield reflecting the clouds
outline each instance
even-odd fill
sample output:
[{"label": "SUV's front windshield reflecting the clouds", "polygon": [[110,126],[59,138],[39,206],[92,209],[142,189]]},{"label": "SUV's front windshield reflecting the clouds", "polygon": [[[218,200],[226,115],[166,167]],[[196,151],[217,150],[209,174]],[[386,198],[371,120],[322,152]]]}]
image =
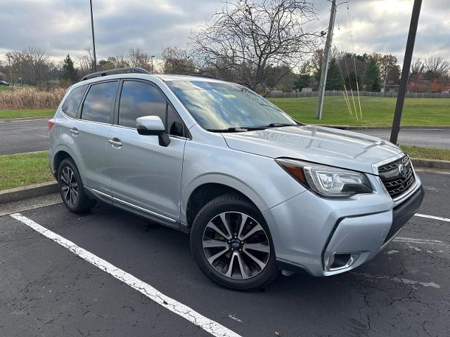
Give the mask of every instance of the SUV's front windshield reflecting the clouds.
[{"label": "SUV's front windshield reflecting the clouds", "polygon": [[297,125],[268,100],[238,84],[212,81],[167,81],[166,84],[207,130]]}]

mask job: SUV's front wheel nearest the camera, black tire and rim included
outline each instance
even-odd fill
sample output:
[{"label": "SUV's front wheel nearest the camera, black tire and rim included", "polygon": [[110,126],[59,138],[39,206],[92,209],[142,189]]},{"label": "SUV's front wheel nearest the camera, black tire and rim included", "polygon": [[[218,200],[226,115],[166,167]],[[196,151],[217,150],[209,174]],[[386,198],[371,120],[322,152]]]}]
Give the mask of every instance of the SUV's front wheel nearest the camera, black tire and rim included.
[{"label": "SUV's front wheel nearest the camera, black tire and rim included", "polygon": [[207,277],[230,289],[261,289],[279,275],[269,227],[239,194],[217,197],[200,210],[191,251]]}]

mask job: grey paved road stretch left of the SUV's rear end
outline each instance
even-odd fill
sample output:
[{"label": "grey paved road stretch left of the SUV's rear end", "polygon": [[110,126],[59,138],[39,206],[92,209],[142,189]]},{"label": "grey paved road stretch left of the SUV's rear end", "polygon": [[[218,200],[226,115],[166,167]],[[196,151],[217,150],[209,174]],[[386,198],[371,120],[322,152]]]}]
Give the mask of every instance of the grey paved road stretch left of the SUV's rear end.
[{"label": "grey paved road stretch left of the SUV's rear end", "polygon": [[0,123],[0,155],[48,148],[47,119]]}]

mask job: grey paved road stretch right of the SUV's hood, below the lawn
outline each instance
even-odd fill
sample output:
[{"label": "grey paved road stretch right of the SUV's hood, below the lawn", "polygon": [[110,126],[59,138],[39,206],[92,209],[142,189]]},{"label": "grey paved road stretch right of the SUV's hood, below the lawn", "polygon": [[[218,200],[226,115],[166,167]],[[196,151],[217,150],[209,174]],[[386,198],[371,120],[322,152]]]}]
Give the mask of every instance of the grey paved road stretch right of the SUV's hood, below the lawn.
[{"label": "grey paved road stretch right of the SUV's hood, below the lawn", "polygon": [[[358,130],[357,132],[385,140],[389,140],[391,136],[391,131],[384,129],[367,129]],[[399,144],[450,149],[450,130],[404,128],[399,133]]]}]

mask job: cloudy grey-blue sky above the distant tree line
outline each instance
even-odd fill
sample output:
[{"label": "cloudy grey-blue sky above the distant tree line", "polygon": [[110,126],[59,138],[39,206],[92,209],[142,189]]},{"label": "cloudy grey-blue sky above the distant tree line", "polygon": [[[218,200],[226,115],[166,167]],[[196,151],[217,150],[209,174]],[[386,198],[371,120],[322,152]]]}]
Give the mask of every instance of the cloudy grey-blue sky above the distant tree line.
[{"label": "cloudy grey-blue sky above the distant tree line", "polygon": [[[305,27],[326,29],[330,2],[312,2],[318,20]],[[222,5],[222,0],[93,0],[97,58],[134,47],[158,60],[165,46],[186,48],[191,30]],[[449,0],[423,0],[414,59],[450,59],[449,5]],[[338,6],[333,37],[338,50],[392,53],[401,63],[413,0],[349,0],[348,6],[348,13],[347,4]],[[29,45],[44,48],[53,60],[91,48],[89,0],[0,0],[0,8],[0,58]]]}]

